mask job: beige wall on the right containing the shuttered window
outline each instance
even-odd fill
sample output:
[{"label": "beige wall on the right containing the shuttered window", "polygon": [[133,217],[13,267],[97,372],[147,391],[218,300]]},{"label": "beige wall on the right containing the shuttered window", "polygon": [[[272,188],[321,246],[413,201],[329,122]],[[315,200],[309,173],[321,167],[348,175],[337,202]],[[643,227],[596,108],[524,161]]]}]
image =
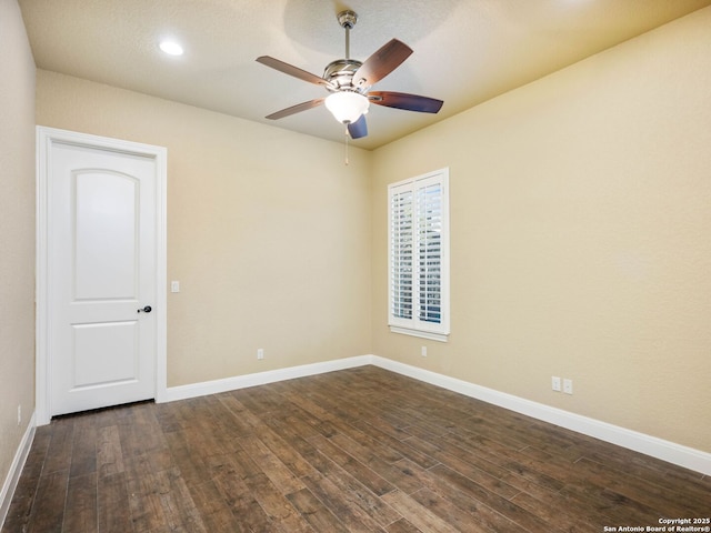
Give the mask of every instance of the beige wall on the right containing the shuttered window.
[{"label": "beige wall on the right containing the shuttered window", "polygon": [[[711,452],[709,28],[711,8],[378,150],[374,353]],[[385,325],[385,185],[445,165],[444,344]]]}]

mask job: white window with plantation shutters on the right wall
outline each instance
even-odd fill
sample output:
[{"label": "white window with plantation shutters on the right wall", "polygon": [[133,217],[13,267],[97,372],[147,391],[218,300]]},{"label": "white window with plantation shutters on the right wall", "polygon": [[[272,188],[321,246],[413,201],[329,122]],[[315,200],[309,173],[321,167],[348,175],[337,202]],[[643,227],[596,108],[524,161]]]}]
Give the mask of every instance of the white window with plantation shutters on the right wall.
[{"label": "white window with plantation shutters on the right wall", "polygon": [[449,169],[388,185],[389,325],[447,341]]}]

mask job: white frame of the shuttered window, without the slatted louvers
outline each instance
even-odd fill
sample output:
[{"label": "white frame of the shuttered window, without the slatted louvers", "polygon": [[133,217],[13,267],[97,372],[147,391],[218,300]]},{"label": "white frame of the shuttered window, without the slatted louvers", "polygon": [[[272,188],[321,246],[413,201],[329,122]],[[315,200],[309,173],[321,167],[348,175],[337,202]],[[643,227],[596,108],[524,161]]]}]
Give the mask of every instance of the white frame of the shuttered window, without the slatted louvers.
[{"label": "white frame of the shuttered window, without the slatted louvers", "polygon": [[[424,189],[438,184],[440,187],[439,207],[440,207],[440,238],[439,238],[439,303],[440,303],[440,321],[431,322],[421,320],[422,309],[420,302],[425,298],[425,291],[419,282],[422,265],[422,250],[427,250],[427,245],[420,245],[418,242],[418,233],[422,229],[418,225],[418,201],[424,194]],[[410,192],[410,239],[411,239],[411,309],[410,316],[397,316],[393,313],[395,308],[395,283],[394,278],[394,233],[395,229],[400,229],[405,224],[393,223],[393,200],[395,195],[402,195]],[[400,205],[400,212],[402,207]],[[408,335],[421,336],[434,341],[447,342],[450,334],[450,213],[449,213],[449,168],[439,169],[425,174],[421,174],[407,180],[388,184],[388,325],[393,333],[402,333]],[[420,219],[421,220],[421,219]],[[424,219],[430,220],[430,219]],[[400,232],[401,233],[401,232]],[[398,233],[398,235],[400,235]],[[402,241],[401,241],[402,242]],[[398,251],[401,249],[399,248]],[[402,270],[400,270],[402,272]],[[401,285],[398,285],[401,286]],[[407,288],[405,288],[407,289]],[[399,293],[400,294],[400,293]],[[402,298],[402,296],[400,296]]]}]

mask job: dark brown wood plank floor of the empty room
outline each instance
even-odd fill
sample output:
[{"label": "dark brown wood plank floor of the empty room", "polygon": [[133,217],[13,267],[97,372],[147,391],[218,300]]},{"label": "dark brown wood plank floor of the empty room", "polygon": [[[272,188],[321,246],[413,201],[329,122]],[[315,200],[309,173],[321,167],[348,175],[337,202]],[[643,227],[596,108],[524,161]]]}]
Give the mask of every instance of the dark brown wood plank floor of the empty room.
[{"label": "dark brown wood plank floor of the empty room", "polygon": [[2,532],[601,532],[711,479],[363,366],[39,428]]}]

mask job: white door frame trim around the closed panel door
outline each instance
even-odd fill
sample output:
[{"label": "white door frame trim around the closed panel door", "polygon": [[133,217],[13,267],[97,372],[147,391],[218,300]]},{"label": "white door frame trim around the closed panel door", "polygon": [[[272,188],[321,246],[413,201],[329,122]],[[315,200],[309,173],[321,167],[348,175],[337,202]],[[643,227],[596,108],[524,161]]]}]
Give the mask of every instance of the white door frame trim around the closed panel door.
[{"label": "white door frame trim around the closed panel door", "polygon": [[50,361],[48,352],[49,315],[49,253],[48,253],[48,185],[51,149],[54,143],[74,144],[126,154],[151,158],[156,161],[156,401],[167,398],[167,160],[163,147],[123,141],[108,137],[79,133],[57,128],[37,127],[37,272],[36,272],[36,360],[34,416],[37,425],[50,423]]}]

